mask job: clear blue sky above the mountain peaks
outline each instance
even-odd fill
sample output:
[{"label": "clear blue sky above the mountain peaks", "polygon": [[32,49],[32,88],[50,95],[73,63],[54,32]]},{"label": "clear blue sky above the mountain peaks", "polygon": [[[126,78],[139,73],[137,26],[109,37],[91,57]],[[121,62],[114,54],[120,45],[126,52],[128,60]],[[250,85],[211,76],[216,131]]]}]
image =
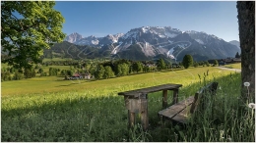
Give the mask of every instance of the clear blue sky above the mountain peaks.
[{"label": "clear blue sky above the mountain peaks", "polygon": [[54,9],[65,18],[67,35],[101,37],[149,25],[205,31],[225,41],[239,41],[236,1],[57,1]]}]

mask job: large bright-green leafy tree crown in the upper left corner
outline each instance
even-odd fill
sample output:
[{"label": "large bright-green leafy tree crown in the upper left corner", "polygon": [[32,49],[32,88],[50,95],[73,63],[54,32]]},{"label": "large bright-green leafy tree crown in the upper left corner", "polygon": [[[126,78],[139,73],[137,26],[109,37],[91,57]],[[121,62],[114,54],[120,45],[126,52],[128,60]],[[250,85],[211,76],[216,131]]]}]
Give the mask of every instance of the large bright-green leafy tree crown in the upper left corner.
[{"label": "large bright-green leafy tree crown in the upper left corner", "polygon": [[1,1],[1,46],[8,53],[4,63],[31,68],[40,62],[43,49],[61,42],[64,18],[54,1]]}]

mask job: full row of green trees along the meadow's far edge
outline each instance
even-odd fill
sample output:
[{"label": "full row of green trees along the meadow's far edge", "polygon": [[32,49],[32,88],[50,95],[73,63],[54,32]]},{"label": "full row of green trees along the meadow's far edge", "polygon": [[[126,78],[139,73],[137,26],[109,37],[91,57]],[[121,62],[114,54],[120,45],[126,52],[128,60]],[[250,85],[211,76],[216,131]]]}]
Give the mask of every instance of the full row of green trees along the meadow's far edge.
[{"label": "full row of green trees along the meadow's far edge", "polygon": [[[216,65],[218,62],[216,61]],[[92,63],[92,62],[72,62],[73,66],[70,66],[70,70],[62,70],[49,68],[48,73],[44,72],[40,65],[36,65],[34,69],[37,69],[37,73],[40,73],[40,76],[53,76],[53,75],[69,75],[72,76],[75,72],[77,73],[91,73],[95,75],[96,79],[100,78],[110,78],[114,76],[124,76],[131,73],[138,73],[138,72],[149,72],[149,71],[161,71],[172,68],[171,65],[167,65],[162,59],[157,60],[156,63],[154,62],[135,62],[131,60],[116,60],[116,61],[108,61],[103,62],[100,64]],[[183,66],[185,69],[188,67],[195,67],[198,66],[210,66],[210,64],[205,62],[194,62],[193,57],[191,55],[185,55],[183,58],[182,63],[179,63],[179,66]],[[31,78],[35,76],[34,69],[25,69],[23,71],[18,71],[15,68],[3,68],[2,69],[2,76],[4,77],[3,80],[11,80],[11,73],[15,73],[15,79],[22,79],[22,78]],[[6,72],[9,71],[9,72]],[[19,76],[19,73],[23,73],[24,76]]]}]

